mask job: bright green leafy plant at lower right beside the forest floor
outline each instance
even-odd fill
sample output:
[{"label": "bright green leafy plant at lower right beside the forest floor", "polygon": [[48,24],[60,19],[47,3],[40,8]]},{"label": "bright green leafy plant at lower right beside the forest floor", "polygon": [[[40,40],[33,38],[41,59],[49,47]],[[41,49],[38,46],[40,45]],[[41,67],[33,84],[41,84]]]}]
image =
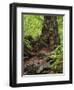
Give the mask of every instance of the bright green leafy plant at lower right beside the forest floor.
[{"label": "bright green leafy plant at lower right beside the forest floor", "polygon": [[49,68],[53,69],[55,72],[62,72],[63,68],[63,48],[59,45],[53,52],[48,55],[49,58],[53,59],[54,62],[49,64]]}]

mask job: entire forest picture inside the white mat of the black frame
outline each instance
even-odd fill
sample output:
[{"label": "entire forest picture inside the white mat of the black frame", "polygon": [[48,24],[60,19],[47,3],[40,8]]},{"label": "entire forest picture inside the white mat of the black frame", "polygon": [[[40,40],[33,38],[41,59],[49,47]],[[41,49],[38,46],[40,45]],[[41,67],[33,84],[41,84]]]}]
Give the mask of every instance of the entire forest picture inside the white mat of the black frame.
[{"label": "entire forest picture inside the white mat of the black frame", "polygon": [[63,16],[23,14],[24,75],[63,73]]}]

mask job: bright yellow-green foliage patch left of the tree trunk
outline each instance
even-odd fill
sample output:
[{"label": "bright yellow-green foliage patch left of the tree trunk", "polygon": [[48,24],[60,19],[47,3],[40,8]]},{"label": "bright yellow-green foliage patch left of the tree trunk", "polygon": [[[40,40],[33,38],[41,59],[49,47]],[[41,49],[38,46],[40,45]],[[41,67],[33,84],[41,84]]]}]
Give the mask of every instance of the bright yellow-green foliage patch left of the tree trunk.
[{"label": "bright yellow-green foliage patch left of the tree trunk", "polygon": [[23,15],[24,36],[36,39],[41,35],[44,17],[40,15]]}]

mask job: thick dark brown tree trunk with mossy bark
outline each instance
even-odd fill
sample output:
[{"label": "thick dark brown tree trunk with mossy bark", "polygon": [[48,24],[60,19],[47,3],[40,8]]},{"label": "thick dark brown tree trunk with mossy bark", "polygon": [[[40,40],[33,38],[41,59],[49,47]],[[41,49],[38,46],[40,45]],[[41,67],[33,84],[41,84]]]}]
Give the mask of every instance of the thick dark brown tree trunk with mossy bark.
[{"label": "thick dark brown tree trunk with mossy bark", "polygon": [[44,26],[42,29],[41,40],[47,44],[49,51],[54,50],[59,44],[56,16],[44,16]]}]

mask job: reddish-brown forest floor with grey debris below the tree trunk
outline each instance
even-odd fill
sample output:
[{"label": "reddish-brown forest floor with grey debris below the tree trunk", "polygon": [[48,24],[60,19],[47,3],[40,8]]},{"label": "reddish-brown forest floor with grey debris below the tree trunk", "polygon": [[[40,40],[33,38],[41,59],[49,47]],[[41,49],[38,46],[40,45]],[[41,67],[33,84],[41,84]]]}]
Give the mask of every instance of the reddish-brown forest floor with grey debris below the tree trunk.
[{"label": "reddish-brown forest floor with grey debris below the tree trunk", "polygon": [[[34,53],[30,58],[24,59],[24,75],[57,73],[54,68],[50,67],[53,65],[55,60],[48,58],[48,54],[48,49],[42,48],[38,53]],[[63,63],[63,60],[60,62]],[[58,73],[62,72],[60,71]]]}]

